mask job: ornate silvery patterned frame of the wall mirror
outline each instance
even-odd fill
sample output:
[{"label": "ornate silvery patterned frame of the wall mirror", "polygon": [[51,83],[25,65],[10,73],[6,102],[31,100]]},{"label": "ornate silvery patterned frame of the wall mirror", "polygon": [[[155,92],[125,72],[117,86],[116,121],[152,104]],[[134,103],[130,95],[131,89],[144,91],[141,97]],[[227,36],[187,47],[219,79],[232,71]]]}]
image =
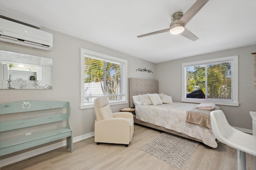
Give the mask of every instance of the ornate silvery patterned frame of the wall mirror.
[{"label": "ornate silvery patterned frame of the wall mirror", "polygon": [[0,89],[52,89],[52,59],[0,50],[2,61],[42,66],[42,80],[11,80],[0,67]]}]

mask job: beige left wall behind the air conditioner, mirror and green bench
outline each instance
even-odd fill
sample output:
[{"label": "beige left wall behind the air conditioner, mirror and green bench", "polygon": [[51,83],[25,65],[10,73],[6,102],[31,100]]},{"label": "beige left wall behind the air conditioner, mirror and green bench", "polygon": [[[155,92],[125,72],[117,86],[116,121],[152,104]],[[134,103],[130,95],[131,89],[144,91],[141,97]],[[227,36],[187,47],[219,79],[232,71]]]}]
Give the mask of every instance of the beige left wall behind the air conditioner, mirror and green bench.
[{"label": "beige left wall behind the air conditioner, mirror and green bench", "polygon": [[[80,110],[80,48],[112,55],[128,60],[128,77],[155,79],[155,64],[94,43],[43,28],[53,34],[52,51],[44,51],[6,42],[0,42],[0,49],[53,59],[53,89],[52,90],[7,90],[0,89],[0,103],[22,100],[69,101],[71,103],[71,126],[74,137],[94,131],[96,119],[94,109]],[[154,73],[142,73],[138,68],[151,69]],[[127,81],[128,83],[128,81]],[[127,86],[128,87],[128,86]],[[119,111],[125,105],[111,106],[112,111]]]}]

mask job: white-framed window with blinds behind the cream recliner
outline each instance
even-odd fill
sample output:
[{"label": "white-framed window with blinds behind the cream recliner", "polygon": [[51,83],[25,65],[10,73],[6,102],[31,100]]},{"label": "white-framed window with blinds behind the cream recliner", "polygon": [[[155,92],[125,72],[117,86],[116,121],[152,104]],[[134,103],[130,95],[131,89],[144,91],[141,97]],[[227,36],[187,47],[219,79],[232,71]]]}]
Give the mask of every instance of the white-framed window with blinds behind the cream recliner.
[{"label": "white-framed window with blinds behind the cream recliner", "polygon": [[127,61],[81,49],[81,109],[94,107],[94,99],[107,96],[110,105],[127,101]]}]

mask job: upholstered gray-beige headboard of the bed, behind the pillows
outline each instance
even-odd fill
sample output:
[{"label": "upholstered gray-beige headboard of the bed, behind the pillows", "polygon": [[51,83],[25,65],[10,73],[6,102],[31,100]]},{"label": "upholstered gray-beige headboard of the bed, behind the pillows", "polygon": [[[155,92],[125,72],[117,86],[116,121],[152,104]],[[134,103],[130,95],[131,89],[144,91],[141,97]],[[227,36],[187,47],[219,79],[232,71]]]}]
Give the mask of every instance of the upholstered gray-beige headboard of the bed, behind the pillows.
[{"label": "upholstered gray-beige headboard of the bed, behind the pillows", "polygon": [[132,96],[147,93],[158,93],[158,81],[129,78],[129,106],[134,107]]}]

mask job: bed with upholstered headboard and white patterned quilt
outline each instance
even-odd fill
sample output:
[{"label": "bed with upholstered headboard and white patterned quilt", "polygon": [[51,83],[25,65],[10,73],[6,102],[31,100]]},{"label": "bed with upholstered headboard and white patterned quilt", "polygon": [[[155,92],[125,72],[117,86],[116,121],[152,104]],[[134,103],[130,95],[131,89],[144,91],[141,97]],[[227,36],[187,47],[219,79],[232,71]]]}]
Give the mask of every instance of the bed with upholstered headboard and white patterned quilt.
[{"label": "bed with upholstered headboard and white patterned quilt", "polygon": [[[198,104],[181,102],[163,105],[134,105],[133,96],[148,93],[158,93],[158,81],[129,79],[129,105],[135,108],[134,123],[196,140],[211,148],[218,146],[210,126],[188,121],[189,113],[199,111],[199,114],[205,112],[204,115],[207,115],[210,111],[195,109]],[[218,109],[219,107],[216,106],[215,110]]]}]

